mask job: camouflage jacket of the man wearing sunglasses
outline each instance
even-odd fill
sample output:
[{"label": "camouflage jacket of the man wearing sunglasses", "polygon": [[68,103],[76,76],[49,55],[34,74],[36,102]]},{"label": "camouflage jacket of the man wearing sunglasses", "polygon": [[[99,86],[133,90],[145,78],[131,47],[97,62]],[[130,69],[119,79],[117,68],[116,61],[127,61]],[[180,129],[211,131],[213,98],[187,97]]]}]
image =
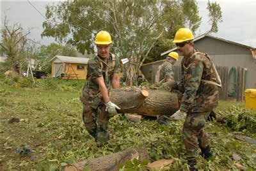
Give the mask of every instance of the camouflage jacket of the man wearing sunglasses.
[{"label": "camouflage jacket of the man wearing sunglasses", "polygon": [[[195,53],[195,49],[181,61],[182,80],[179,86],[184,89],[180,110],[184,112],[211,111],[218,105],[218,86],[203,82],[218,82],[211,58],[207,54]],[[218,75],[218,73],[217,73]]]}]

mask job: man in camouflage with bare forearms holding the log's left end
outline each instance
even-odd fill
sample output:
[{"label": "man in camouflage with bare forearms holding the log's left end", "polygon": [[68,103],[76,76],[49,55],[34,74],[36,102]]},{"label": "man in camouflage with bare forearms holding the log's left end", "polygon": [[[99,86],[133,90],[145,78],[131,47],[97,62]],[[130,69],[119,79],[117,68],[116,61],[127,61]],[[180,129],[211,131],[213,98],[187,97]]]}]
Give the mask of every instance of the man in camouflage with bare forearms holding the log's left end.
[{"label": "man in camouflage with bare forearms holding the log's left end", "polygon": [[117,114],[116,108],[120,109],[109,100],[108,95],[111,86],[114,89],[120,87],[120,63],[110,53],[111,43],[111,36],[106,31],[100,31],[95,36],[98,53],[88,61],[87,81],[80,96],[86,130],[99,145],[108,142],[109,117]]}]

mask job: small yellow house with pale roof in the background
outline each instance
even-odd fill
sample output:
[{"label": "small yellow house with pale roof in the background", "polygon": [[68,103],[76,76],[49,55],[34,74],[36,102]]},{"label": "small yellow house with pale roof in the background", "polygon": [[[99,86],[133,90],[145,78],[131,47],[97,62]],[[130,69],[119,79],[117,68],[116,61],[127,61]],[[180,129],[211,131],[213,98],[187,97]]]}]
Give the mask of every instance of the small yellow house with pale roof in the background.
[{"label": "small yellow house with pale roof in the background", "polygon": [[50,61],[52,77],[85,80],[88,61],[85,57],[54,56]]}]

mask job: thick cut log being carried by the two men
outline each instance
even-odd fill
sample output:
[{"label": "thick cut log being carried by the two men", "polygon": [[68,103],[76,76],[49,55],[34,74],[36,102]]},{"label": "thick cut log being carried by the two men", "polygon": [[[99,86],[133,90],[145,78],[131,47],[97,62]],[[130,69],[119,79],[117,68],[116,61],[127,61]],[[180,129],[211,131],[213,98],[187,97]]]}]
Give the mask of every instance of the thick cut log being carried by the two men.
[{"label": "thick cut log being carried by the two men", "polygon": [[132,87],[112,89],[110,100],[118,105],[119,114],[172,115],[179,110],[182,94],[164,89]]}]

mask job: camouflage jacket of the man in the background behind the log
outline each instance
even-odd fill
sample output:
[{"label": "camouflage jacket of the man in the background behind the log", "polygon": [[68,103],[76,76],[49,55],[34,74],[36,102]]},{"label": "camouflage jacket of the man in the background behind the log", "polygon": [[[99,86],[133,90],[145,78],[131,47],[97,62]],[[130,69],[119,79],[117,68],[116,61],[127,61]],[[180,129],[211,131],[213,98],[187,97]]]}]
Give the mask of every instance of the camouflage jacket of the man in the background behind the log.
[{"label": "camouflage jacket of the man in the background behind the log", "polygon": [[[158,66],[157,73],[156,73],[156,83],[157,82],[165,82],[165,79],[171,78],[173,80],[173,64],[169,61],[165,61],[163,64]],[[157,78],[159,77],[159,78]]]}]

